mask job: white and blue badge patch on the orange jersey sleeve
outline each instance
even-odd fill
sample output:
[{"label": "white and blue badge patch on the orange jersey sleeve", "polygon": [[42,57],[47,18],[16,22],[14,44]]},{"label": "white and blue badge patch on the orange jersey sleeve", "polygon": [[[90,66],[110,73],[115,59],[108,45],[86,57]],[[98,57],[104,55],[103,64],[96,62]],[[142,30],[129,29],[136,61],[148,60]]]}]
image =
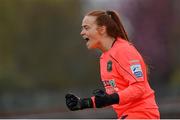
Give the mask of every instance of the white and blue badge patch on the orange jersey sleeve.
[{"label": "white and blue badge patch on the orange jersey sleeve", "polygon": [[136,78],[143,77],[142,69],[140,64],[131,65],[131,71],[135,75]]}]

